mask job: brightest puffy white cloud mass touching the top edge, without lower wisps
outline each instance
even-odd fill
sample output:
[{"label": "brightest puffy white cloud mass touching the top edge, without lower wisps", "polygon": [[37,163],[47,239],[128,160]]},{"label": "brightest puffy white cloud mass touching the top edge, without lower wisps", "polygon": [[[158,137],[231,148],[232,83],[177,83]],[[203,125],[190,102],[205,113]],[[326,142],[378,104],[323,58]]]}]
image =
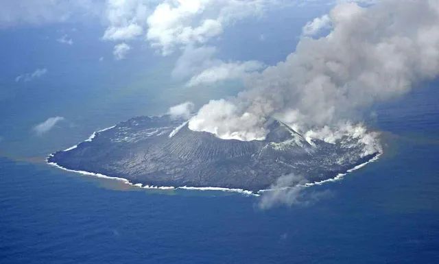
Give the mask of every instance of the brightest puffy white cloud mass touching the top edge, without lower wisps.
[{"label": "brightest puffy white cloud mass touching the top edge, without lower wisps", "polygon": [[178,47],[202,45],[237,19],[261,14],[274,1],[163,1],[148,17],[147,40],[163,55]]}]

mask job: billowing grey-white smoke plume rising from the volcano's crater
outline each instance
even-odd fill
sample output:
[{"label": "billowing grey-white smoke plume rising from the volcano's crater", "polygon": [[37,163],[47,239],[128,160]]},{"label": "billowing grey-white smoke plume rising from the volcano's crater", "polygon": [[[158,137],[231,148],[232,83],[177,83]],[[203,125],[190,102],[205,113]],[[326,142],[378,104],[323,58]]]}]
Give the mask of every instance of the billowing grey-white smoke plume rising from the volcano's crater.
[{"label": "billowing grey-white smoke plume rising from the volcano's crater", "polygon": [[331,10],[331,32],[302,37],[284,62],[210,101],[189,122],[222,139],[263,139],[276,117],[303,132],[339,127],[375,101],[402,95],[439,73],[439,0],[380,1]]}]

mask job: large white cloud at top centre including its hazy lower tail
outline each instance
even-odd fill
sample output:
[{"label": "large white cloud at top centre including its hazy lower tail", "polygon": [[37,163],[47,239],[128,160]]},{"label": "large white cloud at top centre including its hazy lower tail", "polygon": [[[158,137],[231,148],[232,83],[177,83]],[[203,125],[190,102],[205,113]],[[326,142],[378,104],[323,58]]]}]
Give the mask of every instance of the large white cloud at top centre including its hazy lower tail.
[{"label": "large white cloud at top centre including its hazy lower tail", "polygon": [[148,17],[146,38],[163,56],[182,50],[172,76],[187,79],[187,86],[242,80],[265,66],[254,60],[215,58],[213,40],[235,21],[258,16],[274,5],[277,0],[165,0]]}]

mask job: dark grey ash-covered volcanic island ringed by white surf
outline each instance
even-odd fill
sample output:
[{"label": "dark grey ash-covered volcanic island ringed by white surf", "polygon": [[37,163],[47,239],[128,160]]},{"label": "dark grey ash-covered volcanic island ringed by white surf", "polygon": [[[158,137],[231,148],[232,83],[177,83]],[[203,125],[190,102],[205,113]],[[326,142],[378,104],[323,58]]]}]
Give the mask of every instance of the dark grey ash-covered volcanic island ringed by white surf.
[{"label": "dark grey ash-covered volcanic island ringed by white surf", "polygon": [[276,120],[268,125],[265,141],[218,139],[182,123],[169,116],[136,117],[56,152],[48,162],[144,185],[258,191],[289,173],[310,182],[333,178],[375,155],[365,156],[364,145],[348,138],[310,144]]}]

